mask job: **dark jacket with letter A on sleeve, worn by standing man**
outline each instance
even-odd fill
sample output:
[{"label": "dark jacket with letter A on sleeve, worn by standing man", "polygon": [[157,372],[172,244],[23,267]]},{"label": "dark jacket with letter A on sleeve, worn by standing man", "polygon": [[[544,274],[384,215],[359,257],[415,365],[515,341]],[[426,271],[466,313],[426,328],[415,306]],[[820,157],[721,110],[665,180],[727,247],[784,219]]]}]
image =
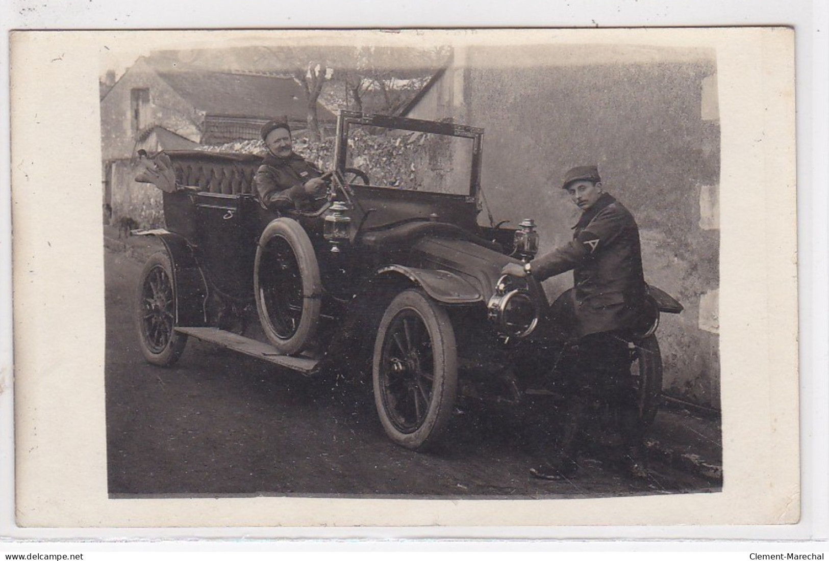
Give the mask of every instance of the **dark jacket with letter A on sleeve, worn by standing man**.
[{"label": "dark jacket with letter A on sleeve, worn by standing man", "polygon": [[573,269],[579,337],[636,324],[647,290],[639,228],[633,214],[610,194],[584,211],[572,242],[536,257],[531,268],[540,281]]}]

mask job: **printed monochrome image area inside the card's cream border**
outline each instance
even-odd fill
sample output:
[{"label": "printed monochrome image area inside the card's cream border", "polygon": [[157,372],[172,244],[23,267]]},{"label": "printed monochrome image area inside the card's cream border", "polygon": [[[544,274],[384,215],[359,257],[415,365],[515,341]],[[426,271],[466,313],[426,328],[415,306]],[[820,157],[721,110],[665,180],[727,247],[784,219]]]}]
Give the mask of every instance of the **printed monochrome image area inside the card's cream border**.
[{"label": "printed monochrome image area inside the card's cream border", "polygon": [[714,50],[365,37],[102,68],[109,495],[719,491]]}]

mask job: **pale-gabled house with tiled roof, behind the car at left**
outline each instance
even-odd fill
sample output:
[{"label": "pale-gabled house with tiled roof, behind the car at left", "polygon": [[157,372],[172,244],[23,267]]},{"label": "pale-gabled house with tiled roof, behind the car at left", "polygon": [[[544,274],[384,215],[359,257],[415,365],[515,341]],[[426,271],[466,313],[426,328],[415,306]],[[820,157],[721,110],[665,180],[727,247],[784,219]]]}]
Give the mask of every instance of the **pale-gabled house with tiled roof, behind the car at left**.
[{"label": "pale-gabled house with tiled roof, behind the car at left", "polygon": [[[104,204],[116,218],[158,224],[158,194],[132,180],[138,149],[181,150],[253,140],[274,117],[287,118],[295,134],[302,134],[307,113],[305,93],[293,78],[187,70],[142,57],[101,99]],[[319,104],[317,113],[323,128],[337,120]]]}]

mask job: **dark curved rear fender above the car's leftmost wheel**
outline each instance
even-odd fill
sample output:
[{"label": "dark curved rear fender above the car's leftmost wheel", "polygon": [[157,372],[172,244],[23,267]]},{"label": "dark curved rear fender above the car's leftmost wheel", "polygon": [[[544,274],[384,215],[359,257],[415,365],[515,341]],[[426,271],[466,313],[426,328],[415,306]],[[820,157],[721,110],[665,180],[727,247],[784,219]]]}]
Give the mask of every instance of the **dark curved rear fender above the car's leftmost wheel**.
[{"label": "dark curved rear fender above the car's leftmost wheel", "polygon": [[207,284],[187,239],[163,228],[141,230],[134,235],[158,237],[167,249],[172,265],[173,290],[176,290],[176,325],[205,325]]}]

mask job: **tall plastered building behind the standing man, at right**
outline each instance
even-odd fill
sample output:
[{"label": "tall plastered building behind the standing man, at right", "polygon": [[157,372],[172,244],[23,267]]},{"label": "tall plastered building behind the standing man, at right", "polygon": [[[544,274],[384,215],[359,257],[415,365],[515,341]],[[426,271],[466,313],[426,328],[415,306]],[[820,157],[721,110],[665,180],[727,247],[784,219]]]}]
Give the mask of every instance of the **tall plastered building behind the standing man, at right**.
[{"label": "tall plastered building behind the standing man, at right", "polygon": [[[558,189],[598,164],[635,214],[646,280],[685,306],[662,318],[667,396],[720,408],[720,119],[712,50],[649,46],[456,49],[401,111],[485,129],[482,191],[496,220],[535,218],[541,250],[578,209]],[[487,213],[481,213],[487,221]],[[547,281],[550,295],[570,275]]]}]

